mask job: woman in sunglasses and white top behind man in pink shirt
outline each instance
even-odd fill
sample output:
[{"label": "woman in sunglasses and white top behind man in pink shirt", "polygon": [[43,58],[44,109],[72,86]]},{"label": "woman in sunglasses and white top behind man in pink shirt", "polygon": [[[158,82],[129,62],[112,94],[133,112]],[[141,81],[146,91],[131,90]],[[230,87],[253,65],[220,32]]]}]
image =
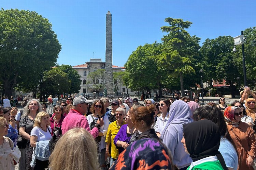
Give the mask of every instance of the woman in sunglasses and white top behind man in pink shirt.
[{"label": "woman in sunglasses and white top behind man in pink shirt", "polygon": [[[99,136],[96,138],[96,145],[97,145],[97,151],[99,154],[99,164],[101,169],[106,168],[106,161],[105,161],[105,152],[106,152],[106,133],[109,128],[109,119],[108,116],[104,115],[105,114],[105,109],[104,109],[104,103],[102,100],[96,100],[93,105],[91,106],[91,113],[90,115],[87,116],[88,123],[90,125],[90,129],[93,129],[93,124],[97,122],[100,118],[103,118],[104,125],[100,127],[99,130]],[[97,116],[98,115],[98,116]],[[95,122],[95,123],[92,123]]]}]

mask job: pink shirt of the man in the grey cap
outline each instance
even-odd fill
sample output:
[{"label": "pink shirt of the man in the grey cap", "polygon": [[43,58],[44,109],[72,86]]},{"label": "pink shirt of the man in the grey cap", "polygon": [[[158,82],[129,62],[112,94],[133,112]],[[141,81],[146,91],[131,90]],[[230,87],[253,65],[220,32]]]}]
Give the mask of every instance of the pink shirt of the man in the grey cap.
[{"label": "pink shirt of the man in the grey cap", "polygon": [[95,127],[93,130],[90,130],[86,117],[75,109],[71,109],[68,115],[64,118],[61,125],[62,134],[65,134],[72,128],[84,128],[93,136],[94,139],[99,136],[98,128]]}]

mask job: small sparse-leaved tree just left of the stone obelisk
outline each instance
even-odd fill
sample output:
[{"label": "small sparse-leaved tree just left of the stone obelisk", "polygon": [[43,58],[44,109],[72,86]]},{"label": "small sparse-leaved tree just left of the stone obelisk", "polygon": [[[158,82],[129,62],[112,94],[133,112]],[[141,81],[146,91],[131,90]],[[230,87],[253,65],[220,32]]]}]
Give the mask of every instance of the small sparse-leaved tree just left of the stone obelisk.
[{"label": "small sparse-leaved tree just left of the stone obelisk", "polygon": [[100,89],[104,88],[104,80],[106,78],[106,72],[104,69],[98,69],[94,72],[90,72],[87,77],[87,83],[93,84],[93,88],[96,89],[99,94]]}]

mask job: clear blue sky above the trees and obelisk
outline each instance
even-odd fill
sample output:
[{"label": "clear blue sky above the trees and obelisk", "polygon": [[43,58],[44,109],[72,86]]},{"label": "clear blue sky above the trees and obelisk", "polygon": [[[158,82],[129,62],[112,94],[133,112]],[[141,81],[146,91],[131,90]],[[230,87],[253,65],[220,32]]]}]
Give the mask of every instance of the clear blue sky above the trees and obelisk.
[{"label": "clear blue sky above the trees and obelisk", "polygon": [[62,46],[58,64],[105,61],[106,13],[112,14],[113,65],[124,66],[140,45],[161,42],[165,18],[193,22],[190,35],[206,38],[240,35],[256,26],[255,0],[0,0],[4,10],[35,11],[49,19]]}]

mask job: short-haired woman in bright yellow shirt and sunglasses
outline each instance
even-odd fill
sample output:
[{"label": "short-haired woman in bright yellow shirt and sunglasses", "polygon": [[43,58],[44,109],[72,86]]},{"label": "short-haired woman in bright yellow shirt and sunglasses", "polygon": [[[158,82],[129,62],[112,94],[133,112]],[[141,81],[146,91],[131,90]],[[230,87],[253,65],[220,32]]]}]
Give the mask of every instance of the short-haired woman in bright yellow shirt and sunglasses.
[{"label": "short-haired woman in bright yellow shirt and sunglasses", "polygon": [[[124,116],[125,116],[125,109],[123,108],[117,108],[116,112],[116,121],[110,123],[108,132],[106,134],[106,153],[105,158],[110,157],[110,167],[118,157],[118,149],[116,149],[116,146],[114,144],[114,138],[116,134],[118,133],[119,129],[125,124]],[[111,143],[111,153],[109,152]]]}]

